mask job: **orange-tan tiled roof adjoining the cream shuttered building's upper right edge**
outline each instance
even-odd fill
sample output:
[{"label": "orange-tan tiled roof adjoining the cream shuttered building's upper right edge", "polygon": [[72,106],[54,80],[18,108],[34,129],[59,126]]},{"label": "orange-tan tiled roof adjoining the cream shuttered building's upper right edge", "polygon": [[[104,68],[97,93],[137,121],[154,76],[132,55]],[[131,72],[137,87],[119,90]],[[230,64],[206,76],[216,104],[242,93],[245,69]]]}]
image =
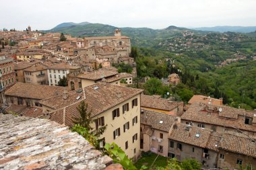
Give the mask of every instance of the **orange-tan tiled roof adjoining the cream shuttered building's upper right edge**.
[{"label": "orange-tan tiled roof adjoining the cream shuttered building's upper right edge", "polygon": [[143,108],[171,111],[181,104],[183,105],[183,102],[181,101],[169,101],[168,99],[162,99],[150,95],[141,95],[141,107]]}]

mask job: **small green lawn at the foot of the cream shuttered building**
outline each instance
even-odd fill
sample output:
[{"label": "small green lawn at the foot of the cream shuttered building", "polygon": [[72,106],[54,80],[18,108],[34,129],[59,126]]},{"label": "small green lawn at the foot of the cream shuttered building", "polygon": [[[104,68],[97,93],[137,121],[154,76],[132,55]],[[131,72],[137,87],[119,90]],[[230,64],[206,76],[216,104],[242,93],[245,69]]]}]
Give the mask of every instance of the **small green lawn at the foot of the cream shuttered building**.
[{"label": "small green lawn at the foot of the cream shuttered building", "polygon": [[[150,168],[157,156],[158,155],[156,155],[155,153],[142,152],[141,158],[135,163],[135,167],[137,167],[137,169],[140,169],[142,165],[146,165],[146,167]],[[167,157],[162,157],[159,155],[153,167],[166,167],[167,160],[168,160]]]}]

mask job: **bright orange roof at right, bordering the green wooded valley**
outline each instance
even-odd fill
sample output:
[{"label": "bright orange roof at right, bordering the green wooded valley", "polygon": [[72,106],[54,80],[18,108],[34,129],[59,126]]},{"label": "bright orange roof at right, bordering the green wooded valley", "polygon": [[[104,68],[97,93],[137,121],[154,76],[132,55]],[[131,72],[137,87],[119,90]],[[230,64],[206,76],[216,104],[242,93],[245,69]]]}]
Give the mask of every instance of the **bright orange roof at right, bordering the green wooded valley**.
[{"label": "bright orange roof at right, bordering the green wooded valley", "polygon": [[207,97],[204,95],[193,95],[188,103],[193,104],[195,102],[201,102],[201,103],[211,103],[213,105],[222,105],[222,100],[215,99],[212,97]]}]

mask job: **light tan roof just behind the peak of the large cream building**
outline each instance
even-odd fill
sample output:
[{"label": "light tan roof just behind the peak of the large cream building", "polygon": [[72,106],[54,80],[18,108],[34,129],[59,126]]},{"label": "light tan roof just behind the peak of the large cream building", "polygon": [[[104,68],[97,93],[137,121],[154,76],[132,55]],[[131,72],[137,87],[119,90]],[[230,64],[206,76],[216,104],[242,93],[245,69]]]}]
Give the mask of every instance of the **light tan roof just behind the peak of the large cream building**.
[{"label": "light tan roof just behind the peak of the large cream building", "polygon": [[83,75],[79,75],[77,77],[95,81],[95,80],[103,79],[103,78],[110,77],[117,74],[118,73],[115,71],[92,71],[92,72],[84,73]]}]

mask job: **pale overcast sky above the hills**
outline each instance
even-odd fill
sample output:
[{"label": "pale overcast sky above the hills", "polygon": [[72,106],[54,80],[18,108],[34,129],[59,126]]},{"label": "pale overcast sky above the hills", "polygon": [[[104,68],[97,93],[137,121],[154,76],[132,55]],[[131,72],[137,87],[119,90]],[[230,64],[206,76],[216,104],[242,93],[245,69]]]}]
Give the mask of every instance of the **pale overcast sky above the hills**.
[{"label": "pale overcast sky above the hills", "polygon": [[0,29],[63,22],[117,27],[256,26],[256,0],[1,0]]}]

